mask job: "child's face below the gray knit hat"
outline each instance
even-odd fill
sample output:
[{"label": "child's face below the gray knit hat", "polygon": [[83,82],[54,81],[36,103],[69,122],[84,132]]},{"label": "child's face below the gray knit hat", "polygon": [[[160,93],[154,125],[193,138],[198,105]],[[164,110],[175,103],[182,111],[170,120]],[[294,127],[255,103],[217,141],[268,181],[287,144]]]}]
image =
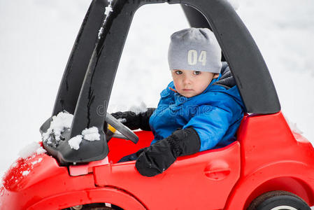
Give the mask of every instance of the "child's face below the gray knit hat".
[{"label": "child's face below the gray knit hat", "polygon": [[171,70],[174,86],[181,95],[190,98],[201,94],[210,84],[213,78],[219,74],[206,71]]}]

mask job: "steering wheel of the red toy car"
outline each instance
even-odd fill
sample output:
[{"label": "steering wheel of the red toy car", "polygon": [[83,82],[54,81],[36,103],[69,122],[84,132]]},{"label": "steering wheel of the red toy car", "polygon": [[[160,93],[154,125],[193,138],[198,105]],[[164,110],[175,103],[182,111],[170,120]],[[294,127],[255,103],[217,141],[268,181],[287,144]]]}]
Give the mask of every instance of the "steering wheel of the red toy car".
[{"label": "steering wheel of the red toy car", "polygon": [[138,142],[138,136],[132,132],[129,127],[123,125],[119,120],[115,119],[110,113],[106,114],[106,122],[114,127],[121,134],[113,134],[113,138],[127,139],[133,141],[135,144]]}]

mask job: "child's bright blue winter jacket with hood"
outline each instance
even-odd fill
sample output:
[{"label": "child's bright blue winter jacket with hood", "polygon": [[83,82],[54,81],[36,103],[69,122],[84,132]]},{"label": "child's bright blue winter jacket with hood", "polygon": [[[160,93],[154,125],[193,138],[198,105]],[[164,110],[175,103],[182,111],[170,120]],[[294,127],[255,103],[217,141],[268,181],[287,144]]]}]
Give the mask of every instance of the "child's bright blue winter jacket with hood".
[{"label": "child's bright blue winter jacket with hood", "polygon": [[187,127],[193,127],[199,134],[200,151],[227,146],[235,140],[244,106],[227,64],[221,72],[204,92],[190,98],[173,91],[173,82],[169,83],[150,116],[150,128],[155,135],[152,144]]}]

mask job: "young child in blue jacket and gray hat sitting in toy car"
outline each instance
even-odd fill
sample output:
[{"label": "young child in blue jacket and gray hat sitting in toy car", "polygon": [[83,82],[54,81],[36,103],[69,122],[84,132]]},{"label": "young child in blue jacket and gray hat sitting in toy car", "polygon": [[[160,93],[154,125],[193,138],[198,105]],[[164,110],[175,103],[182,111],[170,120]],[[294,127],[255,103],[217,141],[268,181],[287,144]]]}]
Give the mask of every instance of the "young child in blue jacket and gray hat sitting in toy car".
[{"label": "young child in blue jacket and gray hat sitting in toy car", "polygon": [[243,102],[212,31],[189,28],[171,35],[168,60],[173,81],[160,94],[157,109],[113,113],[135,130],[152,130],[152,144],[120,162],[136,160],[143,176],[168,169],[176,158],[234,141]]}]

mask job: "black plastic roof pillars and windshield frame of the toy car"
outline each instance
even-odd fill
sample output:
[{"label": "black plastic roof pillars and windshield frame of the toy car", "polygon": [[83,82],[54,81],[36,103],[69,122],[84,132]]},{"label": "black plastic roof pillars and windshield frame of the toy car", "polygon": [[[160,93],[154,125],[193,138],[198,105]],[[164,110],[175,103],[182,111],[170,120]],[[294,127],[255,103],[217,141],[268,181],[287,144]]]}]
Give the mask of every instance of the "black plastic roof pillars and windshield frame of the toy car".
[{"label": "black plastic roof pillars and windshield frame of the toy car", "polygon": [[[92,1],[73,45],[55,101],[52,116],[73,114],[71,129],[58,146],[44,148],[62,164],[101,160],[108,155],[104,135],[107,104],[131,20],[148,3],[181,3],[191,27],[213,30],[245,104],[246,112],[270,114],[280,111],[276,89],[264,59],[248,29],[228,1],[151,0]],[[113,11],[104,15],[106,7]],[[48,130],[51,118],[41,127]],[[97,127],[101,141],[83,142],[78,151],[68,141],[87,127]]]}]

